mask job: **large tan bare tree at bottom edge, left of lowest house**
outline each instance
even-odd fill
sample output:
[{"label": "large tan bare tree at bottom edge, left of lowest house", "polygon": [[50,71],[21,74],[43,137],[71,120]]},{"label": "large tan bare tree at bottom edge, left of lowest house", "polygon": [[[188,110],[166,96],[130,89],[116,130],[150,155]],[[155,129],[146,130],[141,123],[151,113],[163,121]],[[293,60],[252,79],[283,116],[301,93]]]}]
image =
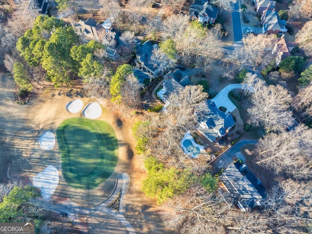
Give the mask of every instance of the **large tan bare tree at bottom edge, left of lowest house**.
[{"label": "large tan bare tree at bottom edge, left of lowest house", "polygon": [[225,233],[223,224],[231,209],[221,195],[209,194],[200,185],[165,206],[162,218],[166,226],[185,234]]}]

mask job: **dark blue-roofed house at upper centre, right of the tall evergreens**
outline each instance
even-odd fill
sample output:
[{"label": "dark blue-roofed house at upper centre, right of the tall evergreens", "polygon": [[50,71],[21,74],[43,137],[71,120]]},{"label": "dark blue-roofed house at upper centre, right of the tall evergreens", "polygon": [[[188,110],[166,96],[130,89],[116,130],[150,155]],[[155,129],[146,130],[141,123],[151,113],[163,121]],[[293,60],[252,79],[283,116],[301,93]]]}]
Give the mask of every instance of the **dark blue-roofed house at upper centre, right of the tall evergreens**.
[{"label": "dark blue-roofed house at upper centre, right of the tall evergreens", "polygon": [[154,78],[160,76],[161,72],[168,70],[166,65],[161,68],[159,63],[152,61],[153,50],[157,48],[158,46],[156,44],[153,45],[151,41],[146,41],[136,46],[137,63],[143,71],[150,73]]}]

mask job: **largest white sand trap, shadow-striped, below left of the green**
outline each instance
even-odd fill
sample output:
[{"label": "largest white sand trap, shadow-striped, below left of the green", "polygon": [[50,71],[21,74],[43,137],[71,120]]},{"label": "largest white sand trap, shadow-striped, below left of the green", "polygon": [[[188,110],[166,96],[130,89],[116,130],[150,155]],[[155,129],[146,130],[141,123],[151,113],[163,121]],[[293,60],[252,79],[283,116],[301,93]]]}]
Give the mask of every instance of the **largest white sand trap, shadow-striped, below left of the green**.
[{"label": "largest white sand trap, shadow-striped, below left of the green", "polygon": [[42,170],[33,178],[33,185],[41,190],[41,196],[48,200],[59,184],[59,171],[53,166]]}]

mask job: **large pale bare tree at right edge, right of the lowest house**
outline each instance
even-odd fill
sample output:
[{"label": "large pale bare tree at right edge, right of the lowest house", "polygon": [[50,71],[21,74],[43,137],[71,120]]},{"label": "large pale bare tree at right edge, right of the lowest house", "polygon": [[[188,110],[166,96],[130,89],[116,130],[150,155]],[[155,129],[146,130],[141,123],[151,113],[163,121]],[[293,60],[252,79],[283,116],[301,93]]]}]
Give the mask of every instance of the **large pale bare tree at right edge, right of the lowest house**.
[{"label": "large pale bare tree at right edge, right of the lowest house", "polygon": [[290,131],[270,133],[257,144],[257,164],[294,178],[312,176],[312,129],[299,125]]}]

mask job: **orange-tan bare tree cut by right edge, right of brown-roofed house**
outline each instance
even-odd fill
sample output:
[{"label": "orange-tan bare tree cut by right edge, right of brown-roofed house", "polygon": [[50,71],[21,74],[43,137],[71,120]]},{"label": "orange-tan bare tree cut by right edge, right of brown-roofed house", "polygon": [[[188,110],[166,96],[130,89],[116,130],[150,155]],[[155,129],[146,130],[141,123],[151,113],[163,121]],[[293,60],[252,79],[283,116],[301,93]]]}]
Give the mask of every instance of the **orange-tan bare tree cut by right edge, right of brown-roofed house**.
[{"label": "orange-tan bare tree cut by right edge, right of brown-roofed house", "polygon": [[296,42],[307,56],[312,56],[312,21],[308,21],[296,34]]}]

